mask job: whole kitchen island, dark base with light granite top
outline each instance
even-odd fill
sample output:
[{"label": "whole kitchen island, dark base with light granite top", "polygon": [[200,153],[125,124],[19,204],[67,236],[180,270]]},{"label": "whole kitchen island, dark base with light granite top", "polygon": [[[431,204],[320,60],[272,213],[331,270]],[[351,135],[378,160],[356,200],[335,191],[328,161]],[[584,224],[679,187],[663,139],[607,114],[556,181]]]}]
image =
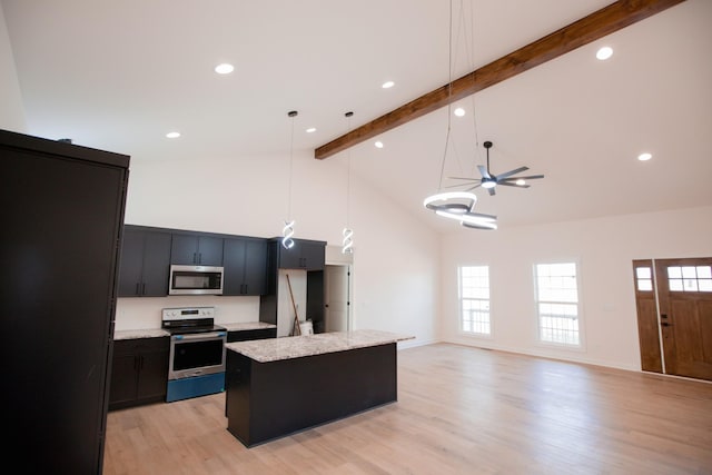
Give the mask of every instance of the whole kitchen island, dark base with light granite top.
[{"label": "whole kitchen island, dark base with light granite top", "polygon": [[335,331],[226,345],[227,429],[251,447],[397,400],[388,331]]}]

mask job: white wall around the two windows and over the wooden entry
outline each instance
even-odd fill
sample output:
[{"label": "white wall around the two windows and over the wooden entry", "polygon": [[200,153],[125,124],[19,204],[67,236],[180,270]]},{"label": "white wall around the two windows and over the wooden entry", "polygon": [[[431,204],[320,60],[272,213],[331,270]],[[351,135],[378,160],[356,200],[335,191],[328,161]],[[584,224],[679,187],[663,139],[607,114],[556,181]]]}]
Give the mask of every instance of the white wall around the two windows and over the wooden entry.
[{"label": "white wall around the two windows and over the wooden entry", "polygon": [[[633,259],[712,256],[712,207],[458,232],[444,237],[447,342],[640,370]],[[584,345],[536,343],[533,265],[578,263]],[[457,267],[488,265],[493,337],[458,331]]]}]

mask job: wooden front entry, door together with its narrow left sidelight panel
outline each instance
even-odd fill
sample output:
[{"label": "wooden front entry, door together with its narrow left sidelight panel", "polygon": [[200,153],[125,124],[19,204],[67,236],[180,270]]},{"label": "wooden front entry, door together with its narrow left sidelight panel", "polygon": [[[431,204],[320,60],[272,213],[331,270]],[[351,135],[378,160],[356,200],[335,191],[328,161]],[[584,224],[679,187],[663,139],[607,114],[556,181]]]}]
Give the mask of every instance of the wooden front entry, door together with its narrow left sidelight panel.
[{"label": "wooden front entry, door together with its narrow left sidelight panel", "polygon": [[712,380],[712,257],[633,260],[643,370]]}]

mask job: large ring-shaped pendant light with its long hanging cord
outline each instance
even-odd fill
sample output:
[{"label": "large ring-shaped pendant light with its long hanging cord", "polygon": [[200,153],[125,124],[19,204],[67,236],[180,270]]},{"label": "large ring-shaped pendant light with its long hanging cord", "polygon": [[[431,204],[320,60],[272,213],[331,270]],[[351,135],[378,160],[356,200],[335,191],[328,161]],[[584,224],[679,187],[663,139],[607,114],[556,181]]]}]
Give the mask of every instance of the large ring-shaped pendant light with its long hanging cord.
[{"label": "large ring-shaped pendant light with its long hanging cord", "polygon": [[[461,7],[462,16],[462,7]],[[438,192],[428,196],[423,200],[423,206],[435,211],[444,218],[458,220],[463,227],[473,229],[496,229],[497,217],[473,212],[477,197],[471,191],[442,191],[443,175],[445,171],[445,160],[449,145],[449,133],[452,123],[452,96],[453,96],[453,1],[449,2],[449,49],[448,49],[448,83],[447,83],[447,133],[445,136],[445,150],[441,164],[441,177],[438,181]],[[476,130],[475,130],[476,136]]]}]

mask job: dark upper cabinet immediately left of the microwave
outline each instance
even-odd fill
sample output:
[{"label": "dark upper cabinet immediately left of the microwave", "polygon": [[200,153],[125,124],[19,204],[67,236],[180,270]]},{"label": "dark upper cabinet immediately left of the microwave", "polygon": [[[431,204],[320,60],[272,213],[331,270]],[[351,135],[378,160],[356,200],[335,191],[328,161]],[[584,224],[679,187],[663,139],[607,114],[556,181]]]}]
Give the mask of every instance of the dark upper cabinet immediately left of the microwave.
[{"label": "dark upper cabinet immediately left of the microwave", "polygon": [[125,226],[119,297],[168,295],[170,232]]}]

